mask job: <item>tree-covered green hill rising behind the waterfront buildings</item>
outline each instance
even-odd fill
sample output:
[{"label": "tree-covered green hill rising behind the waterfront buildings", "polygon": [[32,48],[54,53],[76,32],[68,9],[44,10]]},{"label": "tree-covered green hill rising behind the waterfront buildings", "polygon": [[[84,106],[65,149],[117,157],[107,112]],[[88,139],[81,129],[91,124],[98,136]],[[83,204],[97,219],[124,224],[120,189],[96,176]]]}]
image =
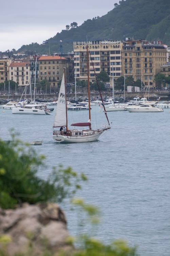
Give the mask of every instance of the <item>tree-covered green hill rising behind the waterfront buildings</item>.
[{"label": "tree-covered green hill rising behind the waterfront buildings", "polygon": [[[170,1],[169,0],[122,0],[114,9],[102,17],[87,19],[81,26],[62,30],[50,42],[50,54],[73,51],[73,41],[125,40],[126,37],[149,41],[162,40],[170,45]],[[76,23],[76,21],[75,21]],[[67,25],[67,24],[66,24]],[[46,39],[45,39],[46,40]],[[49,44],[23,45],[18,52],[49,54]]]}]

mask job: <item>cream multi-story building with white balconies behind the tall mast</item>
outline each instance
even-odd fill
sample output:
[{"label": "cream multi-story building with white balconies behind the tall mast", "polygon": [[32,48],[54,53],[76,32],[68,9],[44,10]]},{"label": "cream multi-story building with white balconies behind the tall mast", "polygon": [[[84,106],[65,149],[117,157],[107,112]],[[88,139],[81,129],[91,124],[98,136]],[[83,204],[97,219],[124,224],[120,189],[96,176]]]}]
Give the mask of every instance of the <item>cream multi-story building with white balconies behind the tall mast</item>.
[{"label": "cream multi-story building with white balconies behind the tall mast", "polygon": [[[105,71],[110,77],[117,79],[122,74],[120,41],[89,41],[74,42],[74,72],[79,80],[87,80],[87,46],[89,47],[90,81],[95,81],[95,73]],[[92,61],[91,61],[92,60]],[[93,69],[95,68],[95,71]]]}]

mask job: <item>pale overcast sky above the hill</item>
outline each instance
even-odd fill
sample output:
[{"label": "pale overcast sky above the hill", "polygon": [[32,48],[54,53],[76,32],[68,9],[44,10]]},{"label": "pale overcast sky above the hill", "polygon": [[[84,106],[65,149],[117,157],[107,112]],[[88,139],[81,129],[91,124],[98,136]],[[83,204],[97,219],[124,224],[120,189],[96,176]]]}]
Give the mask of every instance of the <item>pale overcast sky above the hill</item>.
[{"label": "pale overcast sky above the hill", "polygon": [[118,0],[5,0],[1,2],[0,52],[54,37],[66,25],[101,17]]}]

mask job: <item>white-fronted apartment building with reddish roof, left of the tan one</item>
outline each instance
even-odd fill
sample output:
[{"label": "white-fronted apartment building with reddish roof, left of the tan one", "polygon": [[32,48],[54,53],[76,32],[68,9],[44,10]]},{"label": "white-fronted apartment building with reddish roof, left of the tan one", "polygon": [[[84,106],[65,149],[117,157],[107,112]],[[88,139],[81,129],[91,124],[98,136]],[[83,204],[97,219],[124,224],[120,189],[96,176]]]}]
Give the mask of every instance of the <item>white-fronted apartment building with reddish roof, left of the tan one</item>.
[{"label": "white-fronted apartment building with reddish roof, left of the tan one", "polygon": [[9,80],[18,86],[30,85],[30,62],[12,62],[9,65]]}]

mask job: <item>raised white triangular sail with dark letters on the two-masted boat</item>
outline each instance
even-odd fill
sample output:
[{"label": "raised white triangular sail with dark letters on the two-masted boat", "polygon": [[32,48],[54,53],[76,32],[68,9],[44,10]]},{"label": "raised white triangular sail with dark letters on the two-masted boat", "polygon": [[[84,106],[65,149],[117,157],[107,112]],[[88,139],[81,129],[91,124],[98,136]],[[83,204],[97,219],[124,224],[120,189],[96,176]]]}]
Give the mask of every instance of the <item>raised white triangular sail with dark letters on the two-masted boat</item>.
[{"label": "raised white triangular sail with dark letters on the two-masted boat", "polygon": [[66,126],[66,95],[65,95],[65,77],[63,73],[60,92],[58,95],[57,108],[55,111],[55,118],[53,127]]}]

